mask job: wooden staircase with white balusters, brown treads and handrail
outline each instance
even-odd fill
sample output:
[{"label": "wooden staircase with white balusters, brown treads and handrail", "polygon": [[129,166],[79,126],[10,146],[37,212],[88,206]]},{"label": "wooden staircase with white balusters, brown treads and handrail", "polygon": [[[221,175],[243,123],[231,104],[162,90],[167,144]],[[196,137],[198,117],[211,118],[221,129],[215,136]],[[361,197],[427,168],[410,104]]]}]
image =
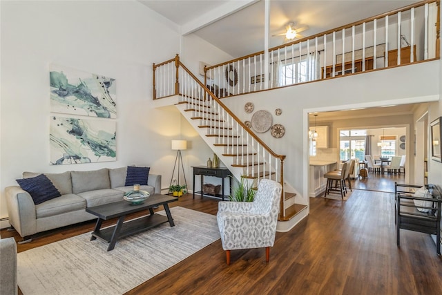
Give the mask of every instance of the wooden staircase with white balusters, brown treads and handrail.
[{"label": "wooden staircase with white balusters, brown treads and handrail", "polygon": [[[172,63],[175,63],[175,73],[170,71]],[[261,179],[280,182],[282,194],[278,221],[284,225],[280,229],[277,227],[278,231],[288,231],[308,215],[307,205],[297,202],[302,198],[298,198],[296,190],[285,182],[285,155],[274,153],[262,142],[181,63],[178,55],[175,59],[154,64],[153,72],[153,97],[157,97],[155,77],[158,75],[162,77],[160,84],[163,89],[160,92],[163,97],[178,98],[175,106],[229,167],[236,180],[244,178],[255,188]]]}]

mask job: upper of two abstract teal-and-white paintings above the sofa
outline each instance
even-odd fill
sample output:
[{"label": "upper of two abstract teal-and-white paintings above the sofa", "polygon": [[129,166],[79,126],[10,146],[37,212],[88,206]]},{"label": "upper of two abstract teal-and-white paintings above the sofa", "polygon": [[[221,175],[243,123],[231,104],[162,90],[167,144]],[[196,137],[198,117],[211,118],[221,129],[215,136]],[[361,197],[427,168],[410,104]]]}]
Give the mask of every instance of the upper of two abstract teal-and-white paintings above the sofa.
[{"label": "upper of two abstract teal-and-white paintings above the sofa", "polygon": [[117,117],[115,79],[50,65],[49,84],[52,113]]}]

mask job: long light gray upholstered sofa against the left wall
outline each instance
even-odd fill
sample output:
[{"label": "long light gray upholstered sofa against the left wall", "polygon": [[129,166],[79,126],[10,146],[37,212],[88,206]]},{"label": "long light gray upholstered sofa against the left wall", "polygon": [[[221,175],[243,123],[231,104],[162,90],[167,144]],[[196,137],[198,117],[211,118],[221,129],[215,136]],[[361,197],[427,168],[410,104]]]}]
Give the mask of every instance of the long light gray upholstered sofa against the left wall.
[{"label": "long light gray upholstered sofa against the left wall", "polygon": [[[124,193],[133,189],[133,185],[125,185],[127,170],[128,167],[122,167],[44,173],[61,196],[40,204],[35,204],[30,193],[21,187],[6,187],[10,225],[23,237],[23,242],[27,242],[30,236],[41,231],[93,220],[97,217],[87,213],[86,207],[123,200]],[[41,173],[24,172],[23,178],[37,175]],[[161,175],[148,174],[147,185],[140,189],[151,194],[161,193]]]}]

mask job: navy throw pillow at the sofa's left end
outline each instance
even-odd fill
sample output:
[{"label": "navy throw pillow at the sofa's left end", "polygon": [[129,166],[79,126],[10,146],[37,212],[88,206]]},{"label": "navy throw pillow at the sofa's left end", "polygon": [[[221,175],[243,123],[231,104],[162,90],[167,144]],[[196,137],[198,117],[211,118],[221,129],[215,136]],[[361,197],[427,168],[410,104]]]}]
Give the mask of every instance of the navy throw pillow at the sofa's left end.
[{"label": "navy throw pillow at the sofa's left end", "polygon": [[54,187],[54,184],[44,174],[37,175],[34,178],[17,179],[16,181],[21,189],[30,194],[36,205],[61,196],[58,189]]}]

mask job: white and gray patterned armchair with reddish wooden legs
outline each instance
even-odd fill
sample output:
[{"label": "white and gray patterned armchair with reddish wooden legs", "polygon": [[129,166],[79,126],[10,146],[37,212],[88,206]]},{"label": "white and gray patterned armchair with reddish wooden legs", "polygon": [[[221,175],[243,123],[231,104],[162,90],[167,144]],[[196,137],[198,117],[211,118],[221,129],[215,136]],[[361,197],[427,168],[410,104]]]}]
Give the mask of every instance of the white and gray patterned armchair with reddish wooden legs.
[{"label": "white and gray patterned armchair with reddish wooden legs", "polygon": [[270,247],[275,242],[276,223],[282,187],[273,180],[261,180],[253,202],[219,202],[218,227],[222,249],[230,265],[230,250],[266,248],[269,262]]}]

